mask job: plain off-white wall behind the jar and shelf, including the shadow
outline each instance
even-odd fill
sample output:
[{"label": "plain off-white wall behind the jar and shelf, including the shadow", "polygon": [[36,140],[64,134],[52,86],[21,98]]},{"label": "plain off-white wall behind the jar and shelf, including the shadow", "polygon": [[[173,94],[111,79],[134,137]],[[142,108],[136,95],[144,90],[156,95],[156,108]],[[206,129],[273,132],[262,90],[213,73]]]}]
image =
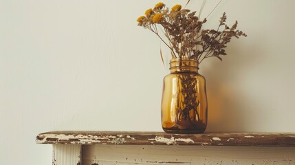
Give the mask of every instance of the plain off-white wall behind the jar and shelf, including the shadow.
[{"label": "plain off-white wall behind the jar and shelf, including the shadow", "polygon": [[[45,131],[162,131],[168,69],[159,39],[135,21],[155,3],[0,0],[0,164],[51,164],[51,146],[34,142]],[[294,6],[226,0],[210,15],[208,28],[226,11],[248,37],[233,39],[222,63],[200,66],[208,132],[295,131]]]}]

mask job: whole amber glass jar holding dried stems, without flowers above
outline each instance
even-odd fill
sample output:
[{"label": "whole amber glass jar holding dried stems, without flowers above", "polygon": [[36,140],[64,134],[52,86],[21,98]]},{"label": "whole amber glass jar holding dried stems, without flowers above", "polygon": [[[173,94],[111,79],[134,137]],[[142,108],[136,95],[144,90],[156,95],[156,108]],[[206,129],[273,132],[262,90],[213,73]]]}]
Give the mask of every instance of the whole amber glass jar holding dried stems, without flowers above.
[{"label": "whole amber glass jar holding dried stems, without flowers above", "polygon": [[207,126],[206,80],[195,60],[173,58],[164,77],[162,128],[166,133],[203,133]]}]

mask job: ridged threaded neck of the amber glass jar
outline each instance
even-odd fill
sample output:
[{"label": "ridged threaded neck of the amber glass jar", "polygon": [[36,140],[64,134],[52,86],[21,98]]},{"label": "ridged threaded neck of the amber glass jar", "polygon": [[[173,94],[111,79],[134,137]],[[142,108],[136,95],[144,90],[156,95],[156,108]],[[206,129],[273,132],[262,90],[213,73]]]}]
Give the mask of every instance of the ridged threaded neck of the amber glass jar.
[{"label": "ridged threaded neck of the amber glass jar", "polygon": [[171,74],[175,73],[198,73],[199,63],[189,58],[172,58],[170,61]]}]

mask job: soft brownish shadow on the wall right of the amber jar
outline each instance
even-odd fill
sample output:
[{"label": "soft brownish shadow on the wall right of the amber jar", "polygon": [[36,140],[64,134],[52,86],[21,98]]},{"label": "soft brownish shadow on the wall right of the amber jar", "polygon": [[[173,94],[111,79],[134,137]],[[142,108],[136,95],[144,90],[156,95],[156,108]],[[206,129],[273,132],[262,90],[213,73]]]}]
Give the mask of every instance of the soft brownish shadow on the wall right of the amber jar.
[{"label": "soft brownish shadow on the wall right of the amber jar", "polygon": [[[259,45],[239,42],[228,45],[227,56],[220,62],[211,58],[201,66],[201,74],[206,78],[208,96],[208,127],[206,132],[253,131],[259,121],[248,118],[248,110],[259,104],[250,96],[248,72],[254,72],[261,65],[263,52]],[[249,50],[249,47],[251,49]],[[203,69],[204,67],[204,69]],[[251,71],[252,69],[252,71]],[[245,76],[246,75],[246,76]],[[257,91],[256,91],[257,92]]]}]

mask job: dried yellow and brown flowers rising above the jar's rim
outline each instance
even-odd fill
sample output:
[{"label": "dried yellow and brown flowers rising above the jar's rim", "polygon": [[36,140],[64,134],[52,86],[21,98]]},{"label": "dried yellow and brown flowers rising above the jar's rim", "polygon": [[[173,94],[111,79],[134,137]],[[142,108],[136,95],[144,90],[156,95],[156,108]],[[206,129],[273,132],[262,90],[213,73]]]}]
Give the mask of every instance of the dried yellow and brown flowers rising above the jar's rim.
[{"label": "dried yellow and brown flowers rising above the jar's rim", "polygon": [[[209,57],[217,57],[222,61],[221,56],[226,55],[226,44],[232,37],[247,36],[237,30],[237,21],[231,28],[226,25],[225,12],[219,20],[217,30],[203,30],[202,25],[207,19],[201,21],[195,14],[196,12],[182,9],[182,5],[174,5],[168,10],[166,5],[160,2],[153,9],[146,10],[145,15],[137,21],[139,26],[151,30],[169,47],[172,58],[195,59],[198,63]],[[161,26],[168,42],[160,35]]]}]

